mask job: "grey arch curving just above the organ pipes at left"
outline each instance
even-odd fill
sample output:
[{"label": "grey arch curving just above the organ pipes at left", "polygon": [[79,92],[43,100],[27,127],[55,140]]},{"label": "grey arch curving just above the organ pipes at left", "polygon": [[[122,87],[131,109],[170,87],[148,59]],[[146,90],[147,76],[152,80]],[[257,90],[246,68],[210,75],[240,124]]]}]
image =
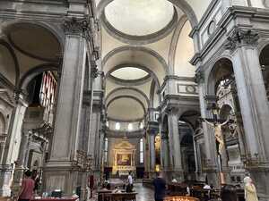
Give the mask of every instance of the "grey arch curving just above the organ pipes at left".
[{"label": "grey arch curving just above the organ pipes at left", "polygon": [[36,77],[39,73],[43,71],[59,71],[58,64],[44,63],[30,69],[30,71],[27,71],[23,74],[22,79],[19,82],[18,88],[26,90],[28,84],[30,83],[30,80],[32,80],[34,77]]}]

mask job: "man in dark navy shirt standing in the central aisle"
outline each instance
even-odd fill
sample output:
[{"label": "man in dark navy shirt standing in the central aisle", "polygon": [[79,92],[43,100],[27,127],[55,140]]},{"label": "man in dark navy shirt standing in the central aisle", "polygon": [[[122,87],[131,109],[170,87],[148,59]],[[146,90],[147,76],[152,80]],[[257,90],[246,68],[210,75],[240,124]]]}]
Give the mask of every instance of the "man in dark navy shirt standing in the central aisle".
[{"label": "man in dark navy shirt standing in the central aisle", "polygon": [[157,178],[153,180],[155,201],[163,201],[165,197],[166,182],[162,178],[162,173],[157,172]]}]

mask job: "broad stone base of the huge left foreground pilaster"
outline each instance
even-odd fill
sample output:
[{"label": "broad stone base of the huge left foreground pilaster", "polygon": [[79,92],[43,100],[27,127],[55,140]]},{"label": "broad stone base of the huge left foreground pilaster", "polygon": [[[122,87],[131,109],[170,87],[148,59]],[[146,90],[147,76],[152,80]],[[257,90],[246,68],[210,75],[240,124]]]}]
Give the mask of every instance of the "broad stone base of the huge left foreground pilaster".
[{"label": "broad stone base of the huge left foreground pilaster", "polygon": [[43,192],[62,190],[63,196],[74,195],[78,187],[78,172],[72,162],[48,162],[43,174]]}]

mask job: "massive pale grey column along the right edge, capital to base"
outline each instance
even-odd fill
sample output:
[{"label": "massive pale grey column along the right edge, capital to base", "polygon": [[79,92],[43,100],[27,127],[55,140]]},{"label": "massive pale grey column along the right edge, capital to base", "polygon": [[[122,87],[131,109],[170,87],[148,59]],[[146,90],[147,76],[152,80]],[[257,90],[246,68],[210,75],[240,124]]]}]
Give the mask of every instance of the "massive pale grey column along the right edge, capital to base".
[{"label": "massive pale grey column along the right edge, capital to base", "polygon": [[246,167],[256,182],[260,200],[268,200],[269,105],[256,48],[257,39],[256,33],[250,30],[236,29],[226,46],[232,56],[247,141]]}]

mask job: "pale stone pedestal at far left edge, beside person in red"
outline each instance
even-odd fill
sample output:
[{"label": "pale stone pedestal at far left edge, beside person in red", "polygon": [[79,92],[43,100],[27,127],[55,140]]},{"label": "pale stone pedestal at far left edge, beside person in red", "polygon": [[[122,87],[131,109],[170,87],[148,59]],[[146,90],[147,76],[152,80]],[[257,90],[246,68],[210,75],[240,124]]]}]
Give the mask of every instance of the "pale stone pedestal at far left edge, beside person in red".
[{"label": "pale stone pedestal at far left edge, beside person in red", "polygon": [[0,165],[0,197],[11,197],[12,195],[13,167],[11,165]]}]

